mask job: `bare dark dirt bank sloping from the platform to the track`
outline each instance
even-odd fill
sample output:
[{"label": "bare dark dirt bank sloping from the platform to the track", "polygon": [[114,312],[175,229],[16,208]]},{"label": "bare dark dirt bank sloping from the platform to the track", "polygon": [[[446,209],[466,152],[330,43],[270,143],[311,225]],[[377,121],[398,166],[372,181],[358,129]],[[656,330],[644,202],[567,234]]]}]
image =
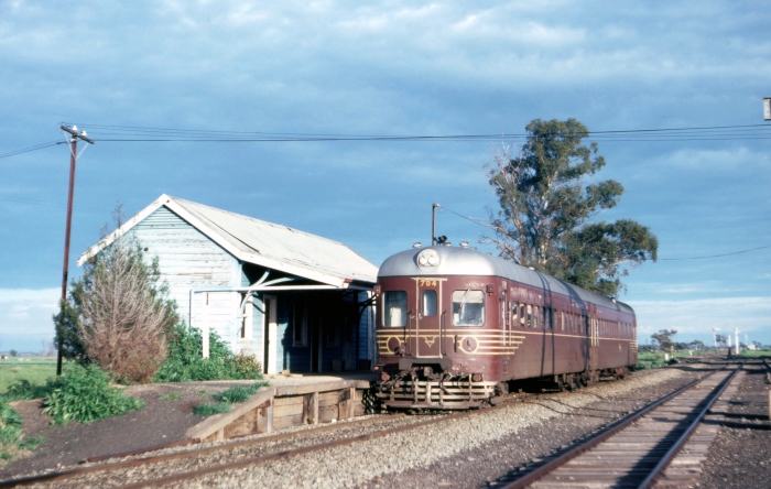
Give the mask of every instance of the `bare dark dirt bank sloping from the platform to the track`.
[{"label": "bare dark dirt bank sloping from the platform to the track", "polygon": [[[13,408],[23,419],[26,438],[42,437],[33,453],[15,458],[0,468],[0,479],[10,479],[33,471],[77,464],[88,457],[145,449],[185,439],[185,432],[204,421],[193,414],[198,404],[214,402],[209,394],[232,385],[253,381],[218,381],[191,383],[156,383],[132,385],[124,393],[139,398],[145,406],[123,416],[108,417],[88,425],[70,422],[51,426],[51,417],[42,414],[41,401],[20,401]],[[180,399],[161,400],[164,394],[178,393]]]}]

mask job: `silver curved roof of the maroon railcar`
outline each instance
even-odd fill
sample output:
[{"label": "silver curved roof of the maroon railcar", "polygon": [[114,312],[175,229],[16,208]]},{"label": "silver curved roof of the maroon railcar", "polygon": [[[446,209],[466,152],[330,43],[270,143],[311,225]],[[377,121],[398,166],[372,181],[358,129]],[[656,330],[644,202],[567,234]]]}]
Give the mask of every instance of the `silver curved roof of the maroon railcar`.
[{"label": "silver curved roof of the maroon railcar", "polygon": [[[424,250],[435,250],[439,263],[436,267],[419,267],[417,256]],[[493,257],[473,248],[435,246],[413,248],[399,252],[386,259],[378,278],[383,276],[415,276],[415,275],[489,275],[500,276],[514,282],[551,291],[569,297],[578,297],[609,309],[634,314],[634,311],[619,301],[612,301],[605,295],[589,292],[551,275],[546,275],[510,261]]]}]

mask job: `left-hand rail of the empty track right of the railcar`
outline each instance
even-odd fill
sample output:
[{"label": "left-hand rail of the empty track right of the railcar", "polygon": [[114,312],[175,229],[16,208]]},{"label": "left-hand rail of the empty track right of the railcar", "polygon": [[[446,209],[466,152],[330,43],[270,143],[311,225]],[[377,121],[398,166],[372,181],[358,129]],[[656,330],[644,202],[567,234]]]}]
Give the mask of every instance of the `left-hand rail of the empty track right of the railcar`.
[{"label": "left-hand rail of the empty track right of the railcar", "polygon": [[[701,383],[702,381],[706,380],[707,378],[714,376],[715,373],[725,370],[726,368],[727,368],[727,365],[724,365],[724,367],[721,369],[718,369],[718,370],[712,371],[705,376],[702,376],[698,379],[694,380],[693,382],[689,382],[689,383],[685,384],[684,387],[664,395],[663,398],[661,398],[656,401],[653,401],[652,403],[650,403],[650,404],[634,411],[633,413],[616,421],[615,423],[609,424],[608,426],[602,428],[599,433],[597,433],[595,436],[590,437],[586,442],[580,443],[579,445],[568,449],[564,454],[558,455],[555,458],[549,460],[547,463],[535,467],[533,470],[529,471],[528,474],[524,474],[522,477],[503,486],[503,489],[523,489],[523,488],[534,483],[535,481],[537,481],[542,477],[553,472],[554,470],[556,470],[557,468],[567,464],[568,461],[573,460],[574,458],[578,457],[579,455],[583,455],[584,453],[590,450],[591,448],[601,444],[606,439],[608,439],[611,436],[616,435],[617,433],[621,432],[622,430],[625,430],[626,427],[628,427],[629,425],[631,425],[636,421],[640,420],[642,416],[649,414],[651,411],[653,411],[656,408],[661,406],[662,404],[671,401],[672,399],[676,398],[677,395],[682,394],[683,392],[692,389],[693,387],[697,385],[698,383]],[[737,369],[737,371],[738,371],[738,369]],[[729,376],[729,378],[732,378],[732,374]],[[726,385],[727,385],[727,383],[726,383]],[[717,399],[717,398],[715,398],[715,399]],[[709,406],[712,406],[712,403],[709,404]]]}]

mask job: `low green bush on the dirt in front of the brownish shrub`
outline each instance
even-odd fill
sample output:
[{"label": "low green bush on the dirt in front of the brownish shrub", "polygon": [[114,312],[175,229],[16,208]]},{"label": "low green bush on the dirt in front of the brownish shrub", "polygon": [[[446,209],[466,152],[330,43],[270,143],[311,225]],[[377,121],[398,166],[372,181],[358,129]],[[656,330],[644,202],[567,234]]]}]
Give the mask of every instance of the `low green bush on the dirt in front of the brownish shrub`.
[{"label": "low green bush on the dirt in front of the brownish shrub", "polygon": [[122,395],[121,389],[110,385],[110,376],[94,365],[73,366],[48,387],[43,412],[56,424],[73,420],[88,424],[144,408],[143,401]]}]

